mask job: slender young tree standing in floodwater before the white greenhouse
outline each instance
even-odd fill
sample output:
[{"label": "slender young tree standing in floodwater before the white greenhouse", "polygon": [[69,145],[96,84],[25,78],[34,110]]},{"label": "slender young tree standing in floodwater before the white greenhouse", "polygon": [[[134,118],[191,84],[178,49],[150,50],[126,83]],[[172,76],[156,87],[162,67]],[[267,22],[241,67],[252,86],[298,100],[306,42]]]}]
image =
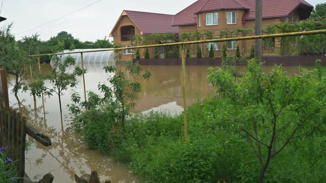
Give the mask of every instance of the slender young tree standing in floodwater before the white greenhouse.
[{"label": "slender young tree standing in floodwater before the white greenhouse", "polygon": [[[58,45],[55,47],[54,52],[63,52],[65,49],[64,42],[59,41]],[[77,76],[83,74],[82,68],[76,65],[76,59],[68,55],[65,57],[63,62],[61,62],[63,55],[53,55],[51,57],[52,69],[48,74],[45,75],[45,79],[49,80],[52,87],[47,88],[51,93],[55,93],[59,98],[59,106],[62,119],[62,107],[61,107],[61,96],[63,91],[67,90],[68,87],[75,87],[78,83]],[[70,66],[74,66],[75,69],[72,73],[67,72]]]}]

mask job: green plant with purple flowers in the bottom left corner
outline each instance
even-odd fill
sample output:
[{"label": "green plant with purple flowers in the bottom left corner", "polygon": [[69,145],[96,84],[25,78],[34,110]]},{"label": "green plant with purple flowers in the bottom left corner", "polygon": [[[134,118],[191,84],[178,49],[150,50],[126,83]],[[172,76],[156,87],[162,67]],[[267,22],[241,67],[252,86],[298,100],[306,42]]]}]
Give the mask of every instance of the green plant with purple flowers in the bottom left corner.
[{"label": "green plant with purple flowers in the bottom left corner", "polygon": [[18,171],[15,162],[7,155],[7,148],[0,148],[0,182],[18,182]]}]

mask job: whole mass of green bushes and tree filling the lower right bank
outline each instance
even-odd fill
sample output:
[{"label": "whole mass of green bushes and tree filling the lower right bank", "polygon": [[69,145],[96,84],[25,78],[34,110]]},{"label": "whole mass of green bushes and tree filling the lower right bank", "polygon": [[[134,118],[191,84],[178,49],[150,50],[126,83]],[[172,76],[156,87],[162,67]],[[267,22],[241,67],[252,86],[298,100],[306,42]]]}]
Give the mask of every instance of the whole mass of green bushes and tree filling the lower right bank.
[{"label": "whole mass of green bushes and tree filling the lower right bank", "polygon": [[[127,67],[127,72],[139,70]],[[140,85],[132,89],[135,84],[125,82],[119,69],[108,71],[116,75],[109,79],[112,89],[99,85],[104,97],[89,93],[88,101],[80,102],[73,95],[73,123],[90,148],[129,162],[142,182],[326,179],[326,78],[316,80],[314,71],[290,78],[276,66],[262,73],[252,59],[248,72],[235,81],[228,70],[210,68],[207,79],[218,95],[188,107],[187,145],[183,115],[130,115],[126,101]],[[137,75],[140,81],[149,76]]]}]

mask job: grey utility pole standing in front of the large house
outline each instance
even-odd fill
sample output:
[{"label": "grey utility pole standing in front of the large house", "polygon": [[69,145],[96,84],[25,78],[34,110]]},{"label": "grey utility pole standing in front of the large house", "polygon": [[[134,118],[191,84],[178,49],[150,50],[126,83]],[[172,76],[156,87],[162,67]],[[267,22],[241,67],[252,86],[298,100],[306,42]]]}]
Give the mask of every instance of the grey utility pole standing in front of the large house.
[{"label": "grey utility pole standing in front of the large house", "polygon": [[[255,17],[255,36],[260,36],[262,34],[261,24],[262,24],[262,9],[263,3],[262,0],[256,0],[256,17]],[[262,55],[262,40],[255,40],[255,57],[261,62]]]}]

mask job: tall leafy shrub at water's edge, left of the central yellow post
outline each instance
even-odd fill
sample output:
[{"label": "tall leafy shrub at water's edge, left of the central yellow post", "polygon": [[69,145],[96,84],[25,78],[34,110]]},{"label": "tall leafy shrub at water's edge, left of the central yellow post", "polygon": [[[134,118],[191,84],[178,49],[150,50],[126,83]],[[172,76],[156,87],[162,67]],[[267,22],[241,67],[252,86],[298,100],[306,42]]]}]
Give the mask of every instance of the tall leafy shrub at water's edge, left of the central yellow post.
[{"label": "tall leafy shrub at water's edge, left of the central yellow post", "polygon": [[[71,100],[74,104],[68,107],[73,116],[73,125],[76,130],[82,131],[86,144],[90,148],[114,153],[125,140],[126,119],[141,92],[141,83],[151,74],[148,70],[141,74],[142,68],[137,63],[128,63],[125,71],[121,66],[105,66],[103,69],[106,73],[114,74],[108,78],[110,84],[98,84],[103,97],[89,92],[88,100],[80,102],[80,96],[73,93]],[[127,79],[126,73],[132,80]]]}]

